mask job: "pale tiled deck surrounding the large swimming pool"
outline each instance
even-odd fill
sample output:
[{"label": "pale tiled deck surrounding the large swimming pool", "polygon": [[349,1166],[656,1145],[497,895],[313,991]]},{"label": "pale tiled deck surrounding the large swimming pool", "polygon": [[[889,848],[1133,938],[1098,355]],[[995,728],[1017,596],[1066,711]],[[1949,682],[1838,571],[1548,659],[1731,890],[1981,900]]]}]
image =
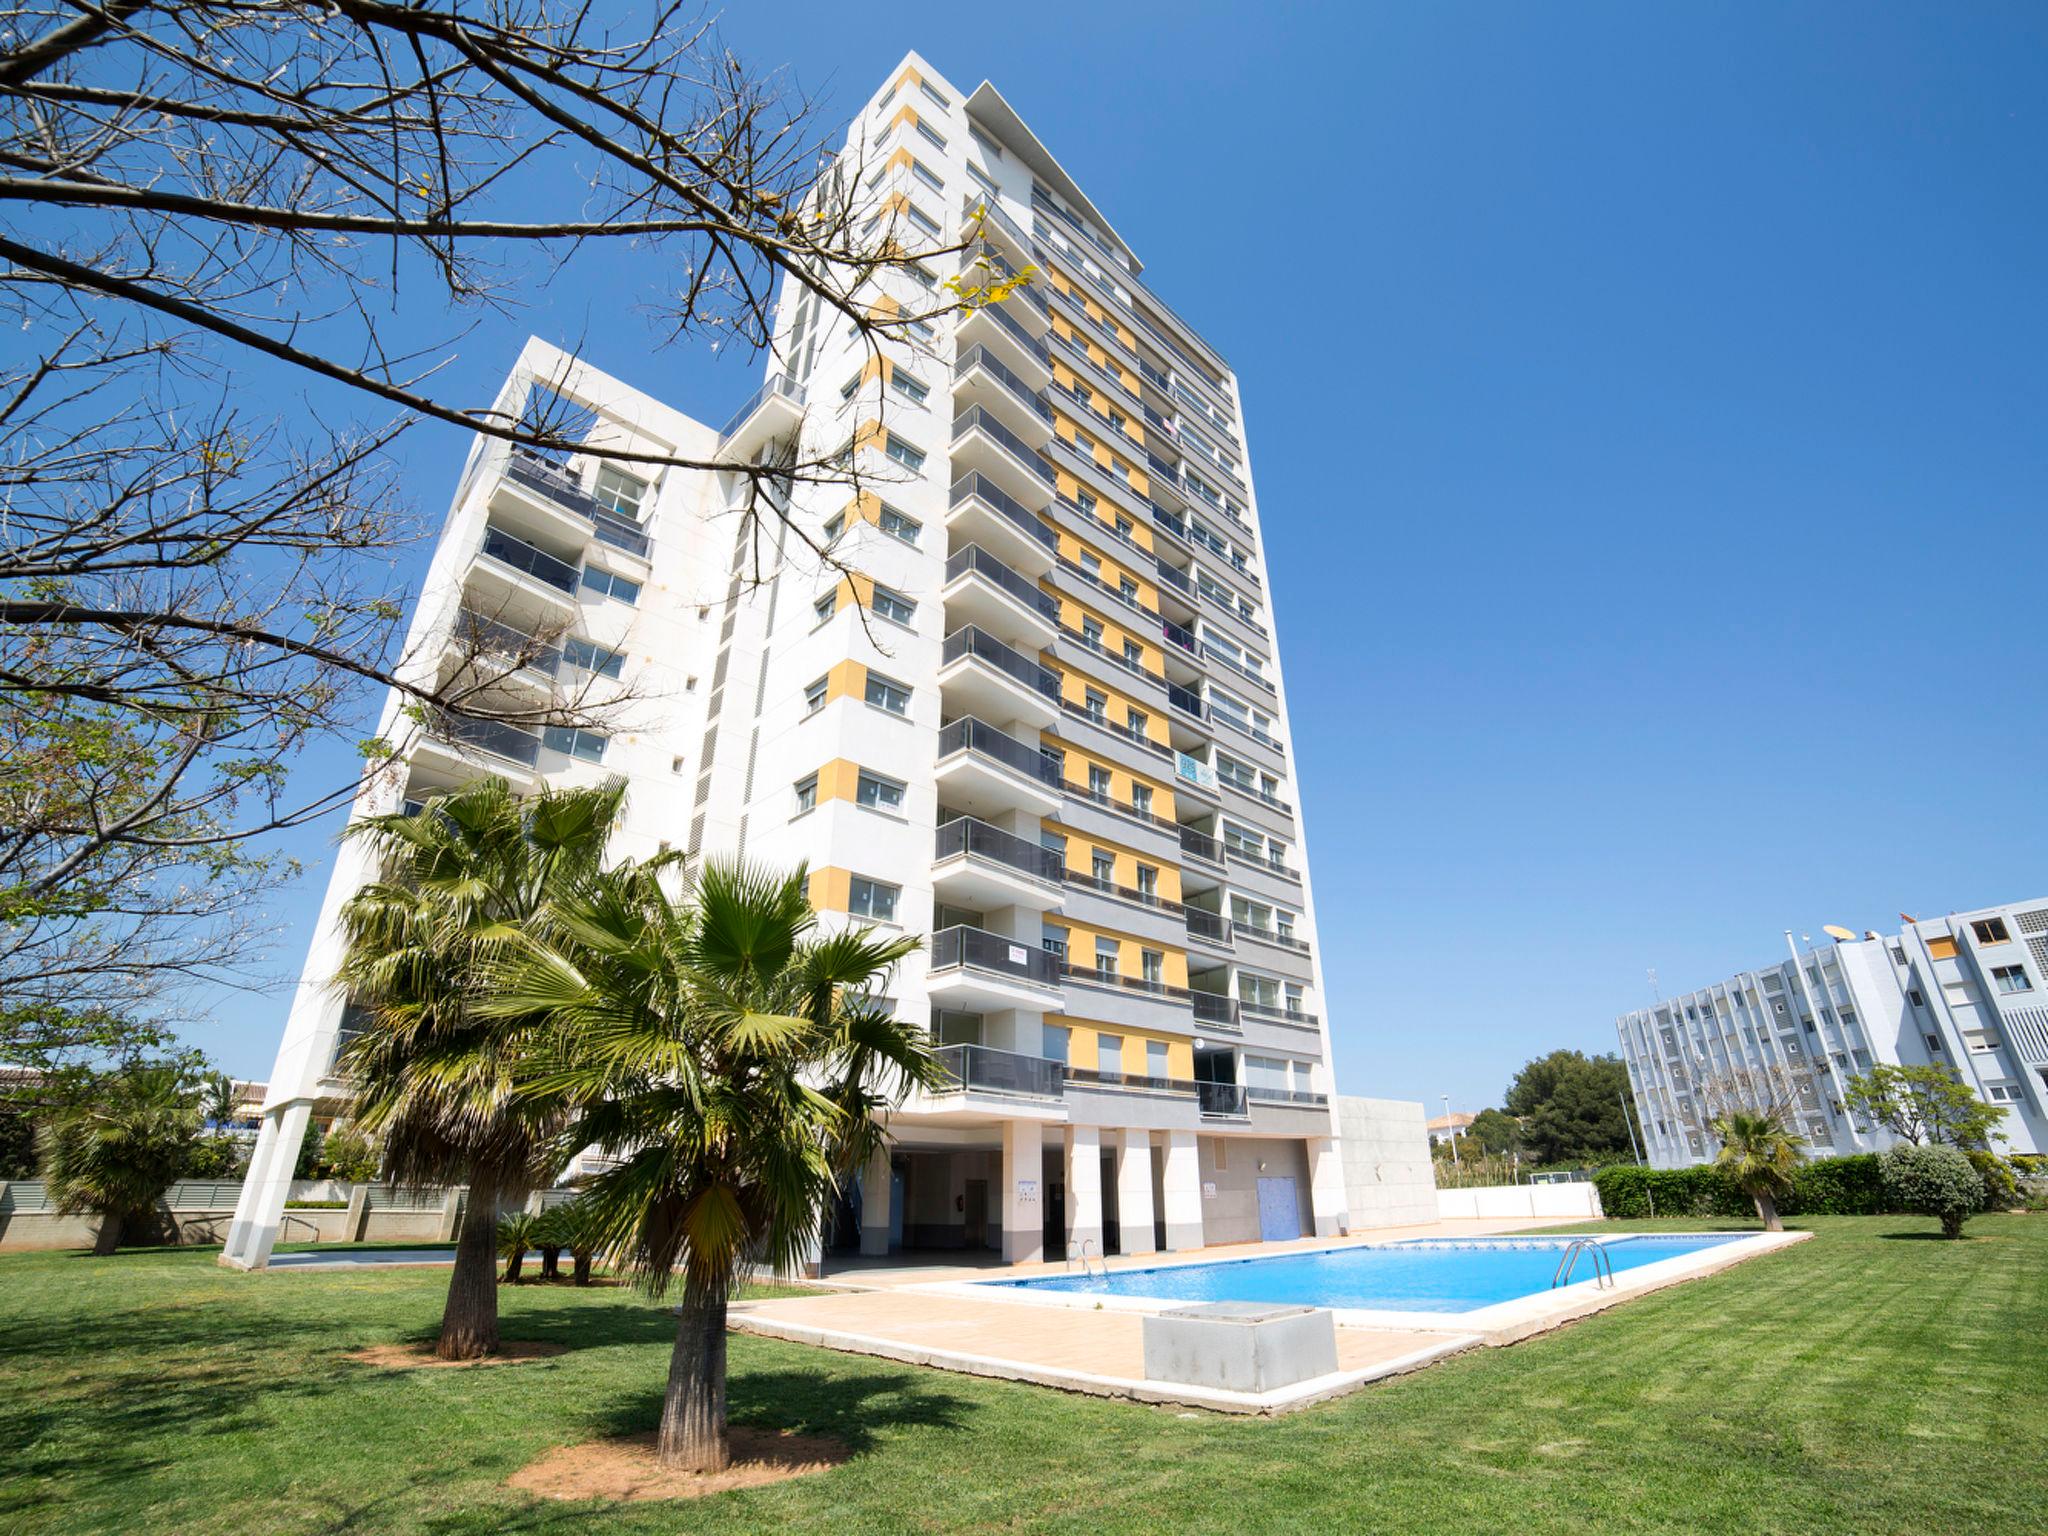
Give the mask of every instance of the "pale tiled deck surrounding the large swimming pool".
[{"label": "pale tiled deck surrounding the large swimming pool", "polygon": [[[1442,1221],[1384,1227],[1350,1239],[1212,1247],[1186,1257],[1204,1264],[1253,1253],[1325,1251],[1401,1237],[1489,1237],[1556,1227],[1556,1221]],[[1442,1360],[1458,1350],[1516,1339],[1585,1317],[1649,1290],[1679,1284],[1757,1253],[1798,1243],[1806,1233],[1757,1233],[1714,1249],[1683,1253],[1616,1276],[1612,1288],[1579,1282],[1473,1313],[1337,1313],[1337,1370],[1276,1393],[1227,1393],[1145,1380],[1143,1315],[1178,1303],[1092,1292],[1038,1292],[973,1284],[1001,1276],[1063,1274],[1036,1266],[836,1266],[823,1284],[838,1294],[739,1303],[731,1325],[745,1333],[817,1343],[827,1350],[903,1360],[1059,1386],[1141,1403],[1184,1403],[1225,1413],[1282,1413],[1366,1382]],[[1110,1260],[1110,1268],[1174,1264],[1171,1255]]]}]

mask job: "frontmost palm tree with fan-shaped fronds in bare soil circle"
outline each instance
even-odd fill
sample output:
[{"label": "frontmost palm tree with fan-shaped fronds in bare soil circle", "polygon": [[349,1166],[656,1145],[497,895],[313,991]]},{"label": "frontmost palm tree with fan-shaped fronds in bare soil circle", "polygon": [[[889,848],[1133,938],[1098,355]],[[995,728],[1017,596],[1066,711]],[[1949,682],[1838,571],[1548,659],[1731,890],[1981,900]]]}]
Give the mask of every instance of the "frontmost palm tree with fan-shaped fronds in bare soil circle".
[{"label": "frontmost palm tree with fan-shaped fronds in bare soil circle", "polygon": [[545,1010],[559,1063],[537,1092],[580,1112],[563,1147],[616,1157],[578,1200],[653,1296],[680,1280],[662,1401],[666,1466],[729,1464],[725,1305],[752,1264],[788,1272],[840,1182],[881,1143],[893,1094],[932,1083],[926,1036],[870,987],[918,948],[815,936],[803,868],[705,868],[674,901],[662,864],[625,866],[498,977],[489,1008]]}]

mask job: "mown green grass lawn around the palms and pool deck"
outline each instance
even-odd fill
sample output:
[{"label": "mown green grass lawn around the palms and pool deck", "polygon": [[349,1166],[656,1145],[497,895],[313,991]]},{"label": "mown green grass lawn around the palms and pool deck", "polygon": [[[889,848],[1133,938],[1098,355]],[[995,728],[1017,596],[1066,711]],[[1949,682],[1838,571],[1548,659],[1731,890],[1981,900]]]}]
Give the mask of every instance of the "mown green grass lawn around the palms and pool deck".
[{"label": "mown green grass lawn around the palms and pool deck", "polygon": [[653,1427],[670,1321],[633,1292],[508,1288],[506,1337],[571,1354],[377,1372],[344,1352],[430,1333],[446,1272],[4,1257],[0,1530],[2048,1530],[2048,1217],[1985,1217],[1964,1243],[1798,1225],[1819,1237],[1274,1421],[735,1337],[733,1419],[854,1460],[618,1507],[502,1483],[553,1444]]}]

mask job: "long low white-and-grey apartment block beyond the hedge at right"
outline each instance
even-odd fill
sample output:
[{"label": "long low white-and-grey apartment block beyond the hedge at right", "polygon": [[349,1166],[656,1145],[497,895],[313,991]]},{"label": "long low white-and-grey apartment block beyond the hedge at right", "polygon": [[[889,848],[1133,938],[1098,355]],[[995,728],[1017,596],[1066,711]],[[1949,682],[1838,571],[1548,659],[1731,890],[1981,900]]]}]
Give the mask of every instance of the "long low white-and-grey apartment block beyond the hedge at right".
[{"label": "long low white-and-grey apartment block beyond the hedge at right", "polygon": [[1937,1065],[2005,1110],[2003,1149],[2048,1149],[2048,899],[1907,922],[1622,1014],[1616,1028],[1657,1167],[1718,1151],[1702,1087],[1772,1075],[1819,1155],[1894,1137],[1843,1110],[1876,1063]]}]

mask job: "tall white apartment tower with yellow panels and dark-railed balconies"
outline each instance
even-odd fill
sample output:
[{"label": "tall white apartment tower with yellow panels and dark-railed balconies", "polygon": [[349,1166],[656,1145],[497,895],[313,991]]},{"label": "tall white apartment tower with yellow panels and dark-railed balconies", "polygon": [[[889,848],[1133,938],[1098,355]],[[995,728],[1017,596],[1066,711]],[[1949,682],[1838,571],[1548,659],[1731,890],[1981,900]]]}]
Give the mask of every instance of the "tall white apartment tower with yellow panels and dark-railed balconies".
[{"label": "tall white apartment tower with yellow panels and dark-railed balconies", "polygon": [[[1235,375],[991,84],[963,92],[909,55],[848,145],[934,248],[975,236],[946,266],[1030,281],[879,358],[784,285],[766,383],[723,432],[528,346],[502,403],[553,389],[590,414],[592,453],[479,444],[414,649],[530,612],[567,639],[524,682],[616,678],[639,719],[426,737],[360,809],[477,772],[623,772],[627,852],[801,860],[825,924],[924,938],[891,1001],[950,1081],[897,1106],[827,1251],[1028,1262],[1343,1231]],[[948,276],[891,272],[874,311],[934,309]],[[782,463],[793,434],[799,457],[852,455],[864,489],[799,477],[809,541],[770,526],[766,549],[729,514],[743,475],[649,483],[602,459]],[[346,999],[326,977],[360,879],[344,848],[229,1262],[264,1262],[305,1114],[336,1087]]]}]

